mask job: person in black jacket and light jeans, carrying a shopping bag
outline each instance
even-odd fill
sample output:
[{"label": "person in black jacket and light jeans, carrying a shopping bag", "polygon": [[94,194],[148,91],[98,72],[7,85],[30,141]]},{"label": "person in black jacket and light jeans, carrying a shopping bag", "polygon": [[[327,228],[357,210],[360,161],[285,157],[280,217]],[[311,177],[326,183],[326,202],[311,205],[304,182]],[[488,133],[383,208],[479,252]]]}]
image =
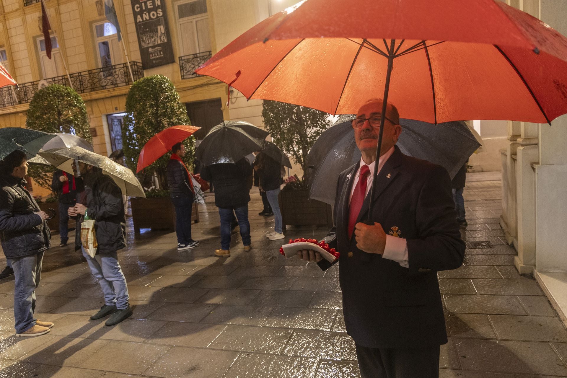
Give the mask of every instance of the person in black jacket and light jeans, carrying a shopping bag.
[{"label": "person in black jacket and light jeans, carrying a shopping bag", "polygon": [[[117,250],[126,247],[126,215],[122,192],[112,177],[100,169],[79,162],[73,163],[75,176],[81,172],[84,188],[77,195],[75,206],[69,207],[69,216],[77,219],[75,250],[81,249],[91,273],[98,279],[104,294],[104,305],[91,316],[92,320],[111,315],[106,325],[115,325],[132,316],[128,286],[118,262]],[[95,220],[98,249],[91,257],[81,243],[81,223],[85,218]]]}]

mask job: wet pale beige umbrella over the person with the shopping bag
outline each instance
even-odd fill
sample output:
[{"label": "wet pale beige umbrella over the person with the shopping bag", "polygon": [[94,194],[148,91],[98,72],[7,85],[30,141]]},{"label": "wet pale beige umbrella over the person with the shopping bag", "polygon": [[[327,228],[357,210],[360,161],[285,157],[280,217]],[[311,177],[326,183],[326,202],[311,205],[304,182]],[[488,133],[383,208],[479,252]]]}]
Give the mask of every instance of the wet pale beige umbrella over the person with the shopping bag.
[{"label": "wet pale beige umbrella over the person with the shopping bag", "polygon": [[134,176],[134,172],[123,165],[113,162],[106,156],[95,154],[82,147],[53,148],[52,150],[40,152],[39,155],[54,165],[54,167],[71,173],[71,175],[73,174],[71,164],[73,164],[74,160],[92,165],[101,169],[104,175],[112,177],[112,180],[116,182],[116,185],[120,187],[122,194],[125,196],[146,197],[142,185]]}]

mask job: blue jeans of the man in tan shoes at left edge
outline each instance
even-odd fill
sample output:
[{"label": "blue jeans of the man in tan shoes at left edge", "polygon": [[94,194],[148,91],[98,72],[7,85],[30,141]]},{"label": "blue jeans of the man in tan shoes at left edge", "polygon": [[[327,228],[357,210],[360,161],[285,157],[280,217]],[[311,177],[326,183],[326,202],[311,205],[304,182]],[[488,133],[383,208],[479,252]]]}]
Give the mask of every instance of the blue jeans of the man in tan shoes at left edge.
[{"label": "blue jeans of the man in tan shoes at left edge", "polygon": [[36,324],[35,290],[39,286],[43,252],[29,256],[11,258],[14,269],[14,328],[16,333],[24,333]]}]

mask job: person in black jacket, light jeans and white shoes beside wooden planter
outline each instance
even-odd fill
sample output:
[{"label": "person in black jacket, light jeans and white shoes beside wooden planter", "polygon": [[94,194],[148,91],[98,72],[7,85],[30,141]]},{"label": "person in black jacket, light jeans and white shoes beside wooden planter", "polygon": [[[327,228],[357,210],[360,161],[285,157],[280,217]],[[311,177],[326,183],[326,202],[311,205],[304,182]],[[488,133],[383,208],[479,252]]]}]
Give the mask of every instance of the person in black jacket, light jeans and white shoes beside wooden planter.
[{"label": "person in black jacket, light jeans and white shoes beside wooden planter", "polygon": [[280,186],[282,184],[281,164],[276,162],[265,152],[260,152],[260,164],[255,169],[260,174],[260,184],[266,192],[266,198],[272,207],[274,213],[274,231],[266,234],[270,240],[284,239],[282,213],[280,211],[280,202],[278,196],[280,194]]}]

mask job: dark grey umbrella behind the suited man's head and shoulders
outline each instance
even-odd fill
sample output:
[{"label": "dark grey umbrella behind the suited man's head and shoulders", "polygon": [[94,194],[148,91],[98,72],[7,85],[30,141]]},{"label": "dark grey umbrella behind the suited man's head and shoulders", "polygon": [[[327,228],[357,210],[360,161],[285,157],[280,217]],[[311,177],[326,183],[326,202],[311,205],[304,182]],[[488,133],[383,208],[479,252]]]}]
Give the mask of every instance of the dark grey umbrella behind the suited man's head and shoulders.
[{"label": "dark grey umbrella behind the suited man's head and shoulders", "polygon": [[[353,114],[342,115],[315,141],[307,164],[311,171],[309,197],[335,203],[338,175],[361,159],[354,141]],[[447,169],[454,177],[469,156],[480,146],[464,122],[427,122],[400,119],[402,128],[396,145],[414,158],[428,160]]]}]

